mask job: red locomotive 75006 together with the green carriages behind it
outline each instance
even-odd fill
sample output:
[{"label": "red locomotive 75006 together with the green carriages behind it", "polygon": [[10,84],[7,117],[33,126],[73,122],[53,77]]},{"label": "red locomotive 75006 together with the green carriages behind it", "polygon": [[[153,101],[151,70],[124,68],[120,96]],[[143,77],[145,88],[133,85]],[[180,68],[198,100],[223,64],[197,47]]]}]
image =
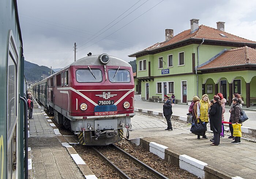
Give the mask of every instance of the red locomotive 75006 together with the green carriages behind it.
[{"label": "red locomotive 75006 together with the green carriages behind it", "polygon": [[33,93],[84,145],[120,141],[135,115],[132,67],[105,53],[75,61],[35,84]]}]

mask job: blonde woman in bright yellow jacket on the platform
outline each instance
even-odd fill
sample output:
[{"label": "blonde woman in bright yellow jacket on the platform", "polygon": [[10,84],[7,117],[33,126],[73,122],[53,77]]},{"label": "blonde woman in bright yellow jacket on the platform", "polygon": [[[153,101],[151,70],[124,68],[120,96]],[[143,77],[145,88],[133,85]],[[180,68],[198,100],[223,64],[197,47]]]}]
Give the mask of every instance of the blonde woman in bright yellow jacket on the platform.
[{"label": "blonde woman in bright yellow jacket on the platform", "polygon": [[[208,112],[210,110],[210,102],[208,99],[208,95],[203,95],[200,102],[197,104],[197,123],[199,123],[199,119],[202,122],[208,123]],[[208,139],[205,135],[205,132],[203,133],[202,138]],[[197,135],[197,139],[200,139],[200,135]]]}]

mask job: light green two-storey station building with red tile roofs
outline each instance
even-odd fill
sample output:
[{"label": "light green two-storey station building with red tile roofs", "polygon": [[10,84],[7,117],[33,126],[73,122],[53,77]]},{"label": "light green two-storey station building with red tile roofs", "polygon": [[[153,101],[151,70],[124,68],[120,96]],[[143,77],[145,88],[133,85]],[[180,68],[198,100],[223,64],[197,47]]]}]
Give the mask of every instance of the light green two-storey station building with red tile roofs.
[{"label": "light green two-storey station building with red tile roofs", "polygon": [[136,57],[138,94],[149,100],[164,95],[176,96],[176,103],[188,103],[192,97],[207,94],[210,99],[221,92],[231,104],[238,93],[244,105],[256,105],[256,41],[190,20],[191,29],[173,36],[165,30],[165,41],[156,43],[129,57]]}]

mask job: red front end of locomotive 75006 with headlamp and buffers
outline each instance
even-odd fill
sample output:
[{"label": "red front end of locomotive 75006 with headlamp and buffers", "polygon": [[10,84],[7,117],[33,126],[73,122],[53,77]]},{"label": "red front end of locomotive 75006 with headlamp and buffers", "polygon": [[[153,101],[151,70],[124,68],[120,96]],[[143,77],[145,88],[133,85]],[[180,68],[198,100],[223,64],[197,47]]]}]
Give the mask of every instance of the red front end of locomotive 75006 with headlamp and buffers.
[{"label": "red front end of locomotive 75006 with headlamp and buffers", "polygon": [[[84,145],[123,139],[134,114],[131,65],[107,54],[84,57],[70,68],[71,130]],[[126,131],[127,130],[127,131]]]}]

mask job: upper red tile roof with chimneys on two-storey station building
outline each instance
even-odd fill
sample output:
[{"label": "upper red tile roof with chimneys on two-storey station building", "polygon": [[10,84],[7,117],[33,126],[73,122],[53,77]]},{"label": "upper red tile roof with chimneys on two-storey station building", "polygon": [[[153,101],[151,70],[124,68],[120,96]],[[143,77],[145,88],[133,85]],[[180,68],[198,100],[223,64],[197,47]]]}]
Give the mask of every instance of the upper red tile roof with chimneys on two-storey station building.
[{"label": "upper red tile roof with chimneys on two-storey station building", "polygon": [[[227,32],[220,31],[220,30],[212,28],[212,27],[208,27],[206,25],[200,25],[199,28],[195,32],[193,32],[193,33],[190,33],[190,32],[191,32],[190,29],[185,30],[185,31],[177,34],[176,36],[172,37],[172,39],[163,41],[161,43],[156,43],[142,51],[150,51],[150,50],[154,50],[157,48],[162,48],[162,47],[165,47],[165,46],[168,46],[171,44],[178,43],[183,40],[202,39],[202,38],[204,38],[205,40],[228,41],[228,42],[234,42],[234,43],[256,43],[256,41],[247,40],[242,37],[238,37],[238,36],[232,35]],[[223,37],[220,33],[225,35],[225,37]],[[142,51],[139,51],[139,52],[142,52]],[[137,52],[137,53],[139,53],[139,52]]]}]

